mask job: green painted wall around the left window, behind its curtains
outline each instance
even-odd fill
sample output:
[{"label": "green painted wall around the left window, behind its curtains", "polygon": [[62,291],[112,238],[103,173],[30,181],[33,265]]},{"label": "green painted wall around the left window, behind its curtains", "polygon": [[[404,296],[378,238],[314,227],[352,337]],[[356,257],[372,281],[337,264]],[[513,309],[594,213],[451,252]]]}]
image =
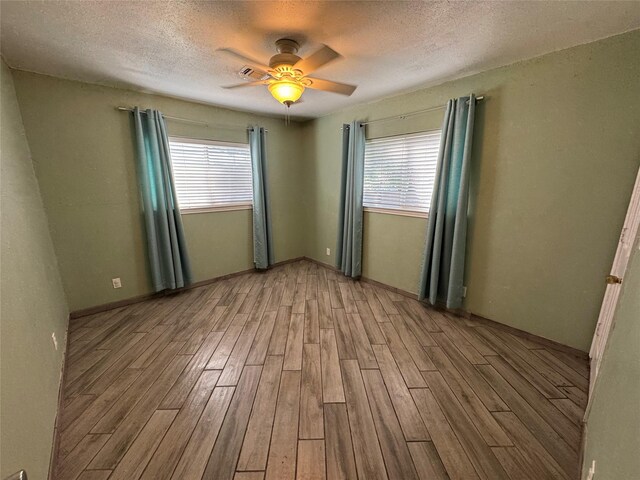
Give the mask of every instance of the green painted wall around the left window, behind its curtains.
[{"label": "green painted wall around the left window, behind its curtains", "polygon": [[[267,127],[276,261],[304,254],[297,123],[20,71],[14,78],[71,310],[151,292],[131,120],[119,105],[210,125],[171,121],[170,135],[246,142],[247,125]],[[196,281],[253,266],[250,210],[183,218]]]}]

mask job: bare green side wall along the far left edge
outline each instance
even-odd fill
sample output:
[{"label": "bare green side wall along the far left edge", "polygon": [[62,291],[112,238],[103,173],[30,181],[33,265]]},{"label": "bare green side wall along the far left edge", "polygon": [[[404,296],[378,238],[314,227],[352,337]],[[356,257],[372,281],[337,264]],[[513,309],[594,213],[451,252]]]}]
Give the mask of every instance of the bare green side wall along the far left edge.
[{"label": "bare green side wall along the far left edge", "polygon": [[38,479],[49,470],[69,312],[11,72],[0,64],[0,478],[26,468]]}]

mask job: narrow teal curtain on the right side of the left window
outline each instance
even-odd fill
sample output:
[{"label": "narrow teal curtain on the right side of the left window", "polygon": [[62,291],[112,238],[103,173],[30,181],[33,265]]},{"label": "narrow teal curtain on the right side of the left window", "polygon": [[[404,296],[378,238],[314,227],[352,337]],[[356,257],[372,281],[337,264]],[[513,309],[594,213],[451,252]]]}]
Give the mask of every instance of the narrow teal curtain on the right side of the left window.
[{"label": "narrow teal curtain on the right side of the left window", "polygon": [[253,262],[257,269],[268,268],[274,263],[265,140],[264,128],[249,128],[253,177]]}]

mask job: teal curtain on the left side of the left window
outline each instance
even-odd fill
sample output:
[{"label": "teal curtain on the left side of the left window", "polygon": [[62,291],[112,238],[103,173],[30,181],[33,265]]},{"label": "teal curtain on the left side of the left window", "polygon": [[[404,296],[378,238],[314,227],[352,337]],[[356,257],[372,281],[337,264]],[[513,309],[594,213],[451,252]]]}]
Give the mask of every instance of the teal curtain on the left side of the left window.
[{"label": "teal curtain on the left side of the left window", "polygon": [[191,268],[171,170],[169,139],[157,110],[133,111],[138,180],[156,292],[191,283]]}]

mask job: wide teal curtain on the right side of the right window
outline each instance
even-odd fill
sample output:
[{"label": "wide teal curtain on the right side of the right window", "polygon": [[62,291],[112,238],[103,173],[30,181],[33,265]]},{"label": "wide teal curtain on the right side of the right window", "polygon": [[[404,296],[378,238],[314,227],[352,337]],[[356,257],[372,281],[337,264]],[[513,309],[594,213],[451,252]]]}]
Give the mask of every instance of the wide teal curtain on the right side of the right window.
[{"label": "wide teal curtain on the right side of the right window", "polygon": [[429,209],[419,297],[462,307],[476,97],[449,100]]}]

